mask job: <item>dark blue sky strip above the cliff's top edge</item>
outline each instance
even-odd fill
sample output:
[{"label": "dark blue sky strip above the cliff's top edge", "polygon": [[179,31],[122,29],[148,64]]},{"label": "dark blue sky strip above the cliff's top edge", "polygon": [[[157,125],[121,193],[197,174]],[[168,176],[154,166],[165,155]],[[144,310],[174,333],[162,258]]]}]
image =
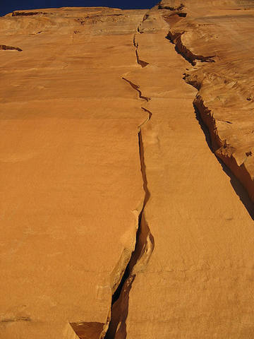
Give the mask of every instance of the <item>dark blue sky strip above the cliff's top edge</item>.
[{"label": "dark blue sky strip above the cliff's top edge", "polygon": [[151,8],[159,0],[0,0],[0,16],[19,9],[50,7],[90,7],[106,6],[117,8]]}]

